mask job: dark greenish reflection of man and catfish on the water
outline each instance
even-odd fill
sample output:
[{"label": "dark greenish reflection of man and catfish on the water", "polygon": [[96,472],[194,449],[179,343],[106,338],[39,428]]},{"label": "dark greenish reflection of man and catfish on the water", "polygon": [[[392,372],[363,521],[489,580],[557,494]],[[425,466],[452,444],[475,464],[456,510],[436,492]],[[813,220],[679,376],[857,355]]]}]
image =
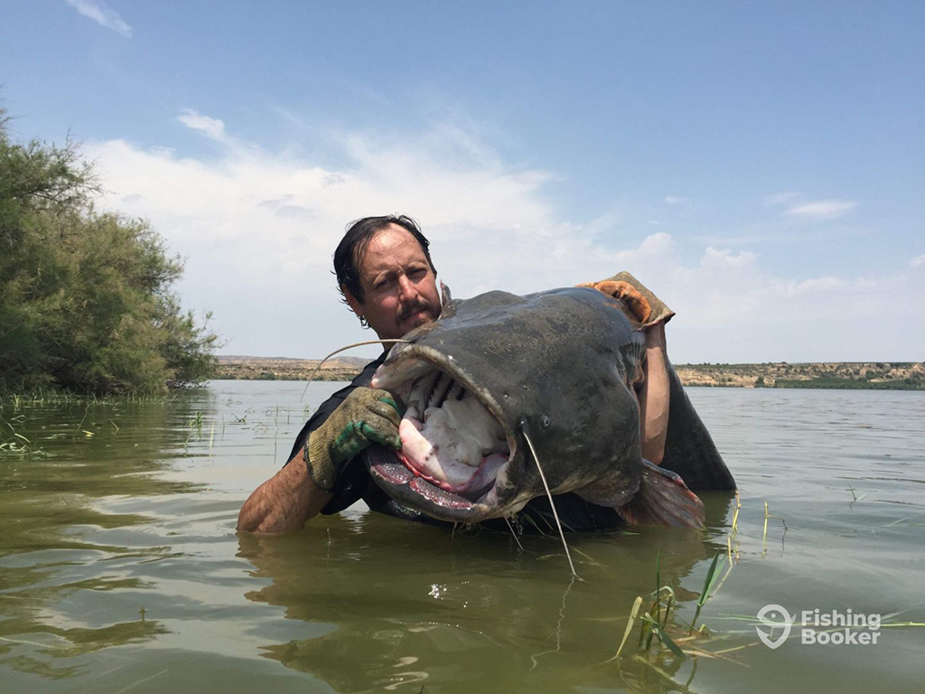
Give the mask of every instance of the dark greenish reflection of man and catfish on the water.
[{"label": "dark greenish reflection of man and catfish on the water", "polygon": [[[677,582],[712,551],[693,531],[573,539],[585,579],[573,582],[554,537],[525,537],[521,550],[500,533],[450,537],[376,514],[325,525],[242,538],[240,551],[273,581],[247,597],[316,627],[268,654],[339,691],[418,679],[567,688],[613,655],[624,606],[654,589],[658,552],[662,580]],[[598,675],[606,686],[611,668]]]}]

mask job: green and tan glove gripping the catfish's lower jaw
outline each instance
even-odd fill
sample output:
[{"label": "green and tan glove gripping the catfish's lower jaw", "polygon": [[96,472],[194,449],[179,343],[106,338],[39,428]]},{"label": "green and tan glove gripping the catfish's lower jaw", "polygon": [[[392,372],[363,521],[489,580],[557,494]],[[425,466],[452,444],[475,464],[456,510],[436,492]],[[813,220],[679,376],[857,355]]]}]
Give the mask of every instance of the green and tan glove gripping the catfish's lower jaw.
[{"label": "green and tan glove gripping the catfish's lower jaw", "polygon": [[352,390],[305,443],[305,465],[314,484],[330,491],[353,456],[372,443],[401,449],[403,409],[388,390]]}]

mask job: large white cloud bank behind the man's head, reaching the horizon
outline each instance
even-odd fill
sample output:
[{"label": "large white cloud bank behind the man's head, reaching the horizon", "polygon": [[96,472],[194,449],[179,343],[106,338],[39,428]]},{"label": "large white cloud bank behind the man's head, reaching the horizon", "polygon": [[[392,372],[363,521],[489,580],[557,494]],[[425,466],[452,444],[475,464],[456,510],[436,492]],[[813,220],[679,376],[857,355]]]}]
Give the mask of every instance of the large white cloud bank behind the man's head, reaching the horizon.
[{"label": "large white cloud bank behind the man's head, reaching the horizon", "polygon": [[[923,339],[915,326],[925,324],[925,273],[783,279],[752,251],[624,230],[613,212],[565,219],[546,191],[555,173],[511,167],[455,127],[330,135],[325,150],[342,159],[334,167],[238,143],[218,118],[179,118],[219,143],[217,159],[123,140],[91,143],[86,154],[109,191],[101,206],[150,219],[188,258],[184,304],[213,309],[235,353],[317,356],[362,339],[338,303],[331,254],[352,219],[391,212],[422,224],[440,279],[460,298],[633,272],[678,312],[670,341],[679,363],[882,357],[876,331],[857,325],[882,317],[895,296],[907,298],[908,334],[891,358],[911,358],[904,345]],[[820,319],[826,329],[807,341],[807,321]]]}]

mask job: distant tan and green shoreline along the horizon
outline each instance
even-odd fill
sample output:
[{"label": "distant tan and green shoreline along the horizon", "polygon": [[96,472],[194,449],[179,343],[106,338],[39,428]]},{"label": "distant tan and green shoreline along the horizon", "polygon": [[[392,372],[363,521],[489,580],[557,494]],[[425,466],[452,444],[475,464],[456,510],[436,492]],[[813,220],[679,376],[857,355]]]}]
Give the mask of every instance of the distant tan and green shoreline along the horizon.
[{"label": "distant tan and green shoreline along the horizon", "polygon": [[[216,378],[307,380],[319,361],[286,357],[219,356]],[[366,359],[358,357],[330,359],[314,376],[314,380],[349,381],[359,375],[366,363]],[[686,387],[925,390],[925,363],[922,362],[679,364],[674,369]]]}]

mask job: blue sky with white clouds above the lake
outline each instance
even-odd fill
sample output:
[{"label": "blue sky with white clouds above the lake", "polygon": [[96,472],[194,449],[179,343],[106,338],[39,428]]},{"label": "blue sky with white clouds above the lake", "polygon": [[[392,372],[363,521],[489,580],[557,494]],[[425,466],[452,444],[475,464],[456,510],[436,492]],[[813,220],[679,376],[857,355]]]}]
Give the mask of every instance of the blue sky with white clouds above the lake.
[{"label": "blue sky with white clouds above the lake", "polygon": [[456,296],[635,272],[677,362],[923,358],[919,3],[60,0],[0,25],[14,135],[83,142],[227,353],[369,336],[330,254],[403,212]]}]

